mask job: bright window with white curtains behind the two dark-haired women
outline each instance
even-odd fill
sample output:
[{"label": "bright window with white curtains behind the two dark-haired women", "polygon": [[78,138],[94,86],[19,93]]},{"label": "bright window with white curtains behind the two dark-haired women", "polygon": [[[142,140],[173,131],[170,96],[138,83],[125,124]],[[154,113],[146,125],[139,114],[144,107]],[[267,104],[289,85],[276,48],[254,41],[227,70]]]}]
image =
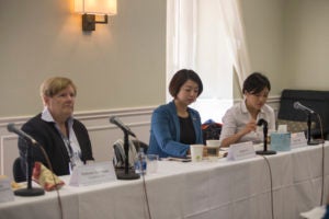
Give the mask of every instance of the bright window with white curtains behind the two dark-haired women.
[{"label": "bright window with white curtains behind the two dark-haired women", "polygon": [[234,72],[242,87],[250,71],[238,1],[168,0],[167,84],[182,68],[200,74],[204,90],[191,106],[203,122],[220,123],[232,105]]}]

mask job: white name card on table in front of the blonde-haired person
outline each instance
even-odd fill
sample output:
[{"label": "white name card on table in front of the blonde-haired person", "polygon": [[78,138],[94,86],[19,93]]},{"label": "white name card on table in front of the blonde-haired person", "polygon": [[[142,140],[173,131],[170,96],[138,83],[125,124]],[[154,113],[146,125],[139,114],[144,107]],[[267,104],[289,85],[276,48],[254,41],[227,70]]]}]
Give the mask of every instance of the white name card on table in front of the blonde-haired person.
[{"label": "white name card on table in front of the blonde-haired person", "polygon": [[87,186],[116,181],[112,162],[99,162],[78,165],[73,169],[69,185]]}]

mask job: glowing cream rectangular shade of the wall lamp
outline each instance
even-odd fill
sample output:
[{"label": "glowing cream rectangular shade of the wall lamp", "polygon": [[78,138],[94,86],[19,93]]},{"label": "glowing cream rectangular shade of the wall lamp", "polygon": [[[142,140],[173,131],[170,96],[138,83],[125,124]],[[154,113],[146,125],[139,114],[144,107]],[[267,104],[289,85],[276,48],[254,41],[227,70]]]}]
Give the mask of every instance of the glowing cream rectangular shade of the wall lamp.
[{"label": "glowing cream rectangular shade of the wall lamp", "polygon": [[75,12],[115,15],[116,0],[75,0]]}]

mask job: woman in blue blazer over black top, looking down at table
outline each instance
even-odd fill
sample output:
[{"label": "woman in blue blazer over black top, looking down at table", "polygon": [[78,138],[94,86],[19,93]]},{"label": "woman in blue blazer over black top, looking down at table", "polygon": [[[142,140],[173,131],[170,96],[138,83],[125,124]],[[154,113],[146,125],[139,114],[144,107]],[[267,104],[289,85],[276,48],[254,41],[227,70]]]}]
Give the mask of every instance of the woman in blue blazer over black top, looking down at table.
[{"label": "woman in blue blazer over black top, looking down at table", "polygon": [[149,154],[184,158],[191,145],[203,143],[200,114],[189,107],[202,91],[202,81],[193,70],[182,69],[172,77],[169,92],[173,100],[152,113]]}]

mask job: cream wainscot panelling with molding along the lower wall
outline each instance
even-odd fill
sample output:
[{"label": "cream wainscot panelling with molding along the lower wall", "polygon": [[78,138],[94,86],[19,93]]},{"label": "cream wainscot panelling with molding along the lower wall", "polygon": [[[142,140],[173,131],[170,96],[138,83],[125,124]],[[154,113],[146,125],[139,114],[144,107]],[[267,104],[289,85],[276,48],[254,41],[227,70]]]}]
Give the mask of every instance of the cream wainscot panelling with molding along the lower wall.
[{"label": "cream wainscot panelling with molding along the lower wall", "polygon": [[[234,100],[240,102],[241,100]],[[270,96],[268,104],[277,112],[280,96]],[[76,112],[75,117],[81,120],[90,135],[93,155],[97,161],[111,161],[113,159],[113,142],[123,138],[122,130],[110,123],[111,116],[118,116],[124,124],[131,127],[138,139],[145,142],[149,140],[150,119],[157,106],[116,108],[104,111]],[[19,157],[18,136],[7,130],[9,123],[21,127],[32,116],[16,116],[0,118],[0,174],[12,177],[12,163]]]}]

